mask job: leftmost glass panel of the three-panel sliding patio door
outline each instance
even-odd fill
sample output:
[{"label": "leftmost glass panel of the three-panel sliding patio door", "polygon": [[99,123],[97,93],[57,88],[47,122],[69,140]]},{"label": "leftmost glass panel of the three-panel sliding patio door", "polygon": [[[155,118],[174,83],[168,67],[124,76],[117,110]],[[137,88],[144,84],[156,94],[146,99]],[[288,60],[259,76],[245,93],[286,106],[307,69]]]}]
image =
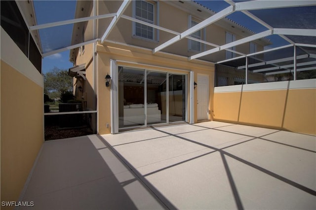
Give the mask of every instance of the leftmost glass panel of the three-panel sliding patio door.
[{"label": "leftmost glass panel of the three-panel sliding patio door", "polygon": [[145,125],[144,73],[118,67],[118,128]]}]

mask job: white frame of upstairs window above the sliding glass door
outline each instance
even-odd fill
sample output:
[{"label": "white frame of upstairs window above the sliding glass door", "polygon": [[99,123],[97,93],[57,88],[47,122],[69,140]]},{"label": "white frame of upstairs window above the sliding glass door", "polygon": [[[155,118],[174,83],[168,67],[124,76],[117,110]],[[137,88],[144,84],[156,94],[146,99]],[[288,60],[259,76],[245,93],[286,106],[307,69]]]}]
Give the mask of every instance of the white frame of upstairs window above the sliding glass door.
[{"label": "white frame of upstairs window above the sliding glass door", "polygon": [[[150,20],[142,18],[142,17],[136,17],[136,0],[132,1],[132,7],[133,7],[132,16],[133,16],[133,18],[136,18],[136,19],[139,19],[139,20],[151,23],[151,24],[159,25],[159,1],[152,1],[152,2],[147,1],[147,0],[141,0],[141,1],[146,1],[147,3],[150,3],[153,5],[154,20],[150,21]],[[149,27],[149,26],[147,26],[147,27]],[[135,38],[140,38],[140,39],[149,40],[149,41],[158,41],[159,31],[157,29],[153,28],[153,38],[152,39],[143,37],[141,35],[136,35],[136,23],[133,22],[132,23],[132,36]]]}]

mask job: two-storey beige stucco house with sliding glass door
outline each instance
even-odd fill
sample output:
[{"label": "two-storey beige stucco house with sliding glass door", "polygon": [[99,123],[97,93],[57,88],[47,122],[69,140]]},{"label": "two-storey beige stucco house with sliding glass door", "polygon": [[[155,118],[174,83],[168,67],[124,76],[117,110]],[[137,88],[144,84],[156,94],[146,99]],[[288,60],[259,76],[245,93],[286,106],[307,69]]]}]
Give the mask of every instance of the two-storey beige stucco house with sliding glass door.
[{"label": "two-storey beige stucco house with sliding glass door", "polygon": [[[98,9],[94,11],[92,1],[78,1],[75,18],[92,16],[94,12],[111,14],[121,4],[120,1],[96,3]],[[214,14],[194,1],[132,1],[103,44],[95,41],[71,50],[74,94],[83,101],[86,110],[98,110],[99,134],[213,119],[214,62],[236,54],[220,51],[191,61],[187,57],[214,48],[209,42],[223,45],[254,33],[222,19],[153,54],[151,49],[175,35],[135,23],[128,17],[181,33]],[[101,37],[110,22],[107,18],[76,23],[72,44]],[[261,39],[232,50],[248,54],[251,50],[263,50],[268,44],[267,39]],[[105,85],[107,74],[112,77],[110,87]],[[195,82],[197,88],[193,88]]]}]

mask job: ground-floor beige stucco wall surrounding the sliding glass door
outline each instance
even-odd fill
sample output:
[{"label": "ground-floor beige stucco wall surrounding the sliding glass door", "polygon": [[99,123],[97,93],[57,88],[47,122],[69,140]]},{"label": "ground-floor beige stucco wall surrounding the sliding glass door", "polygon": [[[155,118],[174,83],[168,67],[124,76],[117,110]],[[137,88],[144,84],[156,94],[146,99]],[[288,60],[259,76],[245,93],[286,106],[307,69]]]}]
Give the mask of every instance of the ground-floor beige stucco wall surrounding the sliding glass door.
[{"label": "ground-floor beige stucco wall surrounding the sliding glass door", "polygon": [[[190,71],[194,71],[194,77],[197,78],[197,73],[209,75],[209,88],[210,88],[210,103],[209,109],[213,110],[211,99],[213,98],[214,87],[214,65],[208,62],[191,61],[184,57],[172,56],[164,53],[152,54],[150,50],[140,49],[136,47],[107,43],[106,46],[97,45],[98,52],[98,122],[99,134],[109,134],[111,132],[111,98],[110,88],[105,86],[104,77],[110,72],[110,60],[117,60],[118,65],[129,66],[135,68],[145,68],[150,70],[162,70],[168,72],[183,73],[188,75],[190,79]],[[129,62],[133,62],[129,63]],[[189,83],[187,83],[189,85]],[[189,92],[189,88],[188,88]],[[195,95],[197,89],[195,90]],[[190,99],[190,92],[187,96],[188,105]],[[195,116],[197,114],[197,97],[195,97]],[[190,109],[190,107],[188,107]],[[190,116],[190,114],[188,114]],[[212,117],[209,116],[211,119]],[[188,119],[190,120],[190,119]],[[197,119],[194,119],[197,122]],[[107,128],[106,125],[109,124]]]}]

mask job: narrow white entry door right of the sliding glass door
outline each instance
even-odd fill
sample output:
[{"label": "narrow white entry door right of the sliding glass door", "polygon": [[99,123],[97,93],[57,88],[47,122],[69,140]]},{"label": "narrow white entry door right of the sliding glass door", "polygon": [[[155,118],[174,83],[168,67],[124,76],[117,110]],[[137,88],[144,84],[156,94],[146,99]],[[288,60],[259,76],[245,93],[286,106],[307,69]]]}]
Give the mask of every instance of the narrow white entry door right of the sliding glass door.
[{"label": "narrow white entry door right of the sliding glass door", "polygon": [[197,120],[208,119],[208,75],[197,74]]}]

